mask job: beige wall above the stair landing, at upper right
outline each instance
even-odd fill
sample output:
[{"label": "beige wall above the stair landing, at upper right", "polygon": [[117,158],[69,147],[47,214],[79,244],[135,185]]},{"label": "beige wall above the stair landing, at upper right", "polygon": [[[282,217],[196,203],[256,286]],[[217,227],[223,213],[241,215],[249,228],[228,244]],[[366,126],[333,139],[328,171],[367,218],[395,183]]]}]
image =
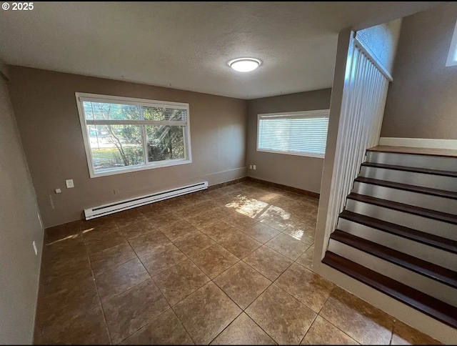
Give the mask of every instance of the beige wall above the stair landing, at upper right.
[{"label": "beige wall above the stair landing, at upper right", "polygon": [[456,3],[403,19],[381,137],[457,139],[457,66],[446,67],[456,19]]}]

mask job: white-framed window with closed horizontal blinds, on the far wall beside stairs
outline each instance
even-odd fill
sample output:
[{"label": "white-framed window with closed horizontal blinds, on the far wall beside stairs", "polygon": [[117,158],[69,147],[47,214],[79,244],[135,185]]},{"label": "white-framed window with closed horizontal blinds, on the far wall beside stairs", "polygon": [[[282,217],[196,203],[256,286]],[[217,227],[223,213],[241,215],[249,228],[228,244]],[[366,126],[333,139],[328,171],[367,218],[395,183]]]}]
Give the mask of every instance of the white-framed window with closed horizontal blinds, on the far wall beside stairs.
[{"label": "white-framed window with closed horizontal blinds, on the far wall beside stairs", "polygon": [[257,150],[323,157],[327,127],[328,109],[258,114]]}]

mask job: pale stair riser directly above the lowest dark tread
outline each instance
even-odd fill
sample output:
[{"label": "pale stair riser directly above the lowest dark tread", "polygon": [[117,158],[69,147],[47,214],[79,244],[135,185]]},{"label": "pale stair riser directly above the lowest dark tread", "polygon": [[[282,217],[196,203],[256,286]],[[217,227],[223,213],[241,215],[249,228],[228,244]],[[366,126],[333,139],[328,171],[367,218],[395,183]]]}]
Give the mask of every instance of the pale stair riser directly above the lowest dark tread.
[{"label": "pale stair riser directly above the lowest dark tread", "polygon": [[391,277],[393,280],[413,287],[416,290],[431,295],[450,305],[457,306],[457,290],[441,282],[425,277],[406,268],[394,265],[384,259],[378,258],[354,247],[348,246],[334,239],[330,239],[328,250],[339,254],[346,259],[363,265],[381,275]]}]

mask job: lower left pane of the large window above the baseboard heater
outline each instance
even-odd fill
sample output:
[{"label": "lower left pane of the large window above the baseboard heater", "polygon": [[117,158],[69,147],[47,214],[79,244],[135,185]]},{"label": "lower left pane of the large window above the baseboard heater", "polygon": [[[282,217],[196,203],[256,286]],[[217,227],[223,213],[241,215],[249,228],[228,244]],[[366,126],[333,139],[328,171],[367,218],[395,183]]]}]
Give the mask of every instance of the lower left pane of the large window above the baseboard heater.
[{"label": "lower left pane of the large window above the baseboard heater", "polygon": [[94,171],[144,164],[141,127],[88,125]]}]

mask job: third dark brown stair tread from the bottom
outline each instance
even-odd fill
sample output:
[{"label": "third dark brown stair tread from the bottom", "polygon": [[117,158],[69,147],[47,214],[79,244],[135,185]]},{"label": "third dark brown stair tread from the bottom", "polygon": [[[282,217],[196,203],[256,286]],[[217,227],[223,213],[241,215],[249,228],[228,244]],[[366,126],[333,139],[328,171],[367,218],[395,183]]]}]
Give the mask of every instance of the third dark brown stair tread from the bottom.
[{"label": "third dark brown stair tread from the bottom", "polygon": [[348,210],[343,210],[339,217],[349,221],[357,222],[358,224],[363,224],[367,227],[380,229],[381,231],[395,234],[399,237],[412,239],[416,242],[421,242],[423,244],[427,244],[433,247],[437,247],[438,249],[443,249],[457,254],[456,240],[438,237],[435,234],[421,232],[416,229],[400,226],[399,224],[393,224],[391,222],[386,222],[380,219],[375,219],[374,217],[357,214]]}]

